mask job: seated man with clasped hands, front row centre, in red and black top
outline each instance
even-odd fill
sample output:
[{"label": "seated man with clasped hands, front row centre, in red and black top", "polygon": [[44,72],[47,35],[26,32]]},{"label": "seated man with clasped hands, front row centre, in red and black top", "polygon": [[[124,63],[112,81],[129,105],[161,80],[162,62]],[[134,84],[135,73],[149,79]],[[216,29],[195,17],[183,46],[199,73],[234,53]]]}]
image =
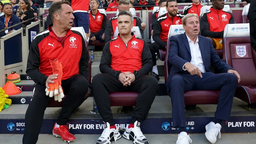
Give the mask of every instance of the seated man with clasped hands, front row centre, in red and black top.
[{"label": "seated man with clasped hands, front row centre, in red and black top", "polygon": [[145,40],[131,33],[133,17],[129,11],[118,14],[119,35],[106,43],[100,61],[100,72],[93,77],[92,91],[105,129],[96,143],[108,143],[121,138],[113,122],[109,93],[139,92],[130,125],[123,137],[137,144],[148,144],[140,130],[140,123],[147,118],[148,111],[157,94],[158,83],[147,74],[152,69],[150,50]]}]

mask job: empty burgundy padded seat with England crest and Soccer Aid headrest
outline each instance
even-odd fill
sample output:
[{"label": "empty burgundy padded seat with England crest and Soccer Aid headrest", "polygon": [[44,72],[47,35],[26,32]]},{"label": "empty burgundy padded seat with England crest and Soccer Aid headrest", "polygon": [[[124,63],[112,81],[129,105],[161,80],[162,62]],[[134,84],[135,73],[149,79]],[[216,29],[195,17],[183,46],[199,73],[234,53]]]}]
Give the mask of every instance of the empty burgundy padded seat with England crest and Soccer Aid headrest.
[{"label": "empty burgundy padded seat with England crest and Soccer Aid headrest", "polygon": [[[249,24],[228,24],[224,30],[223,60],[241,77],[235,97],[256,104],[256,52],[250,41]],[[225,44],[225,45],[224,45]]]}]

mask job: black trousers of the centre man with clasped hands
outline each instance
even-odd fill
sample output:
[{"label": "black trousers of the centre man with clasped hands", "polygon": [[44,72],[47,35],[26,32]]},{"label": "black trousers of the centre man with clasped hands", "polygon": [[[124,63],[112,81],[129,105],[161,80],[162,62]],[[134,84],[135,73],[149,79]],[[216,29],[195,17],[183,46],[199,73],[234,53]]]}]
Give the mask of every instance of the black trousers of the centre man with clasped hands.
[{"label": "black trousers of the centre man with clasped hands", "polygon": [[158,92],[156,78],[143,75],[135,79],[130,86],[123,84],[110,74],[97,74],[92,79],[92,92],[98,107],[99,114],[104,122],[114,125],[113,114],[110,109],[109,93],[112,92],[138,92],[136,108],[131,118],[131,124],[136,120],[139,122],[147,118],[148,111]]}]

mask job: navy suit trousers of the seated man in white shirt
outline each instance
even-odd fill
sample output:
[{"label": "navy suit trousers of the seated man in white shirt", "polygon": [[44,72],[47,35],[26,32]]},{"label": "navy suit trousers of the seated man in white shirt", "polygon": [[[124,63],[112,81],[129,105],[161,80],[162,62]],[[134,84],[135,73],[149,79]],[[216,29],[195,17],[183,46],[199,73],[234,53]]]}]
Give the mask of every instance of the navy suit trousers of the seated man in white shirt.
[{"label": "navy suit trousers of the seated man in white shirt", "polygon": [[220,95],[215,118],[229,120],[233,97],[237,87],[237,77],[233,73],[211,72],[191,76],[190,73],[173,74],[170,80],[173,127],[186,127],[184,92],[188,90],[218,90]]}]

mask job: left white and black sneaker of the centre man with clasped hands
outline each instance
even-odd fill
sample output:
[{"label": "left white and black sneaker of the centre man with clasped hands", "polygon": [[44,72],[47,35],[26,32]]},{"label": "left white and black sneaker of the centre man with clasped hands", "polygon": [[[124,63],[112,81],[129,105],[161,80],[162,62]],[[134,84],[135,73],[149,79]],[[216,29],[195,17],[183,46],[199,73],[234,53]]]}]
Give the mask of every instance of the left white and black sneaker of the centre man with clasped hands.
[{"label": "left white and black sneaker of the centre man with clasped hands", "polygon": [[110,129],[110,124],[106,122],[105,129],[95,144],[110,144],[113,140],[116,142],[116,140],[119,140],[121,137],[121,134],[118,132],[118,127],[116,126],[116,129]]}]

